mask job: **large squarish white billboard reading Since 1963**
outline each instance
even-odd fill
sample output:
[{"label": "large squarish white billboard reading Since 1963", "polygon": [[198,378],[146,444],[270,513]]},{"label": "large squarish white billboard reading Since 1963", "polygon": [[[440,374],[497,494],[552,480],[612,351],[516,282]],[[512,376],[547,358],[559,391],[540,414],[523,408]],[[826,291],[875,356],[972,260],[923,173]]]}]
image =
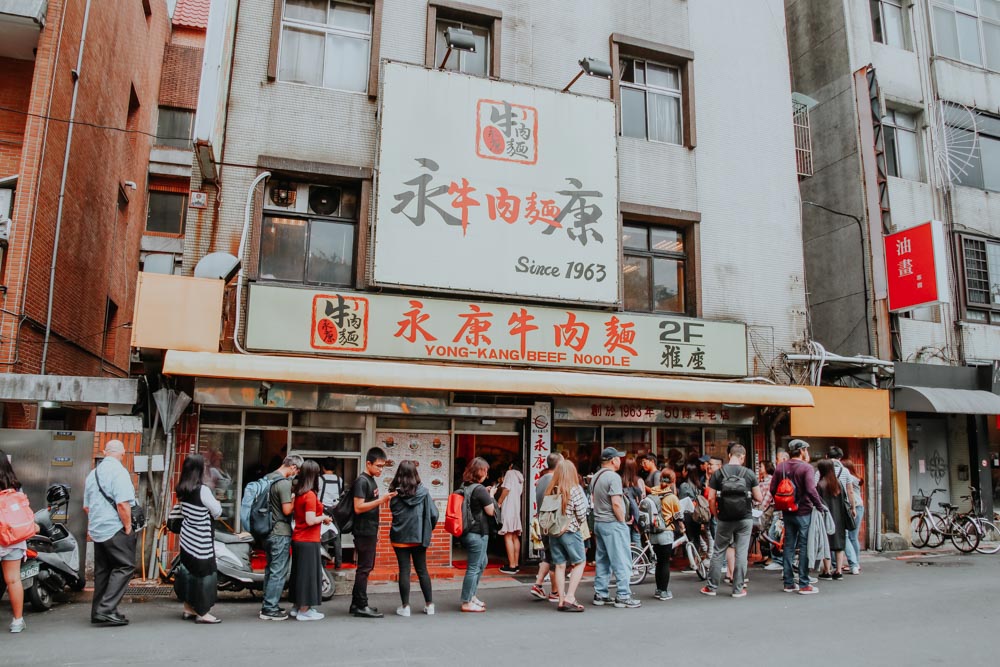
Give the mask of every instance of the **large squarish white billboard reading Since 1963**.
[{"label": "large squarish white billboard reading Since 1963", "polygon": [[374,282],[618,302],[610,100],[386,63]]}]

